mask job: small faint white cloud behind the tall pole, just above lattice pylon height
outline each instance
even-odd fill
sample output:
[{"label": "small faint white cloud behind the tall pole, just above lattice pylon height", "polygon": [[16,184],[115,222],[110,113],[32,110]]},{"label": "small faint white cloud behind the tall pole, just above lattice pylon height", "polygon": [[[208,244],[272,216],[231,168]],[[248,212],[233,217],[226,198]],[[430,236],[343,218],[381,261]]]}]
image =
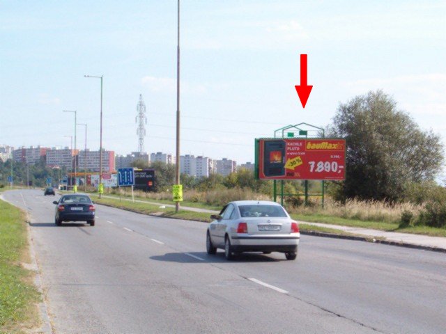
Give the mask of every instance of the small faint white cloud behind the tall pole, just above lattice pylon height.
[{"label": "small faint white cloud behind the tall pole, just above lattice pylon height", "polygon": [[[172,78],[146,76],[141,79],[141,84],[155,93],[176,92],[176,79]],[[180,91],[185,94],[201,95],[206,93],[206,86],[180,81]]]}]

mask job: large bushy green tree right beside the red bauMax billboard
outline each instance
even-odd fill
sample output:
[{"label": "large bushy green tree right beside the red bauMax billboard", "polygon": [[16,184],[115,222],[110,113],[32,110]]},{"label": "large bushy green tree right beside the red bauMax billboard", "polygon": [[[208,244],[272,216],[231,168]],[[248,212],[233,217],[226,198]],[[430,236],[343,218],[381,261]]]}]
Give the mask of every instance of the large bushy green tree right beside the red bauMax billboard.
[{"label": "large bushy green tree right beside the red bauMax billboard", "polygon": [[440,136],[423,132],[381,90],[340,104],[328,134],[346,138],[344,199],[398,200],[409,182],[433,180],[443,162]]}]

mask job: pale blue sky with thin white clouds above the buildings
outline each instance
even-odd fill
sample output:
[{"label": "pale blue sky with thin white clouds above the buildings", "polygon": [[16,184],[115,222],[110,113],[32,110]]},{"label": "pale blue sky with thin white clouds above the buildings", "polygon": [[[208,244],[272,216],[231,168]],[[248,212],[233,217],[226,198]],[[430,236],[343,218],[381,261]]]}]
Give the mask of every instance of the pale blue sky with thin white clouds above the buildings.
[{"label": "pale blue sky with thin white clouds above the buildings", "polygon": [[[177,1],[0,0],[0,145],[175,154]],[[308,55],[305,109],[300,54]],[[254,138],[382,89],[446,145],[446,1],[180,1],[180,154],[254,162]],[[84,148],[78,127],[77,147]]]}]

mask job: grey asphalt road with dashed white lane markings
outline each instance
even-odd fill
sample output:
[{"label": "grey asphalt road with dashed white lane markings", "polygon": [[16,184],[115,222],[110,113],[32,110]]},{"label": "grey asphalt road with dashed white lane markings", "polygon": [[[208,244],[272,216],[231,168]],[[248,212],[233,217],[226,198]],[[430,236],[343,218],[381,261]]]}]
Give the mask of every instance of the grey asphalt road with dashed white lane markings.
[{"label": "grey asphalt road with dashed white lane markings", "polygon": [[302,236],[298,260],[207,255],[206,223],[97,205],[54,225],[59,196],[7,191],[29,212],[55,333],[445,333],[444,253]]}]

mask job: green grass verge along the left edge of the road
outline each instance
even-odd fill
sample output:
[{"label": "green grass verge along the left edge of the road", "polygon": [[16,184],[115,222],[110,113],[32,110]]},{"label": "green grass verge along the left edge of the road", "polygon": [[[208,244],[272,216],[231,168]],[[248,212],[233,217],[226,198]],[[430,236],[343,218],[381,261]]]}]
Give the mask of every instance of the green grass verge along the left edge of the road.
[{"label": "green grass verge along the left edge of the road", "polygon": [[20,265],[26,247],[24,214],[0,200],[0,333],[20,333],[38,322],[40,296],[31,271]]}]

